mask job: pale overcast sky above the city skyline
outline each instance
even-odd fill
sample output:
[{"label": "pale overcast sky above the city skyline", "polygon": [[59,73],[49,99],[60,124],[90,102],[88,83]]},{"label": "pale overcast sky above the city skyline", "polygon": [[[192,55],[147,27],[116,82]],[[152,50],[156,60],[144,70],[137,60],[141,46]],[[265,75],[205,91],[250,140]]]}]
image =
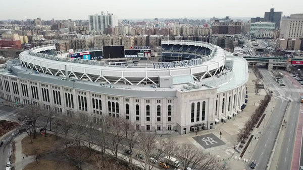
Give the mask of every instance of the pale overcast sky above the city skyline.
[{"label": "pale overcast sky above the city skyline", "polygon": [[85,19],[101,11],[118,19],[264,17],[271,8],[283,15],[303,13],[303,0],[0,0],[0,20]]}]

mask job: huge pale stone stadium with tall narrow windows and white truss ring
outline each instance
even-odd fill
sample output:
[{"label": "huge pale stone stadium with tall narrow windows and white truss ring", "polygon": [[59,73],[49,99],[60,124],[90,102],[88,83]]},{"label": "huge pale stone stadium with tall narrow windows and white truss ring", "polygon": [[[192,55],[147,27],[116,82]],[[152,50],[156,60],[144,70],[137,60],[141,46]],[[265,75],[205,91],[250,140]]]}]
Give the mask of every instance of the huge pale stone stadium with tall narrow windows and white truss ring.
[{"label": "huge pale stone stadium with tall narrow windows and white truss ring", "polygon": [[206,42],[161,44],[162,62],[138,63],[62,58],[47,54],[55,45],[34,47],[1,65],[0,97],[96,123],[124,117],[140,131],[180,134],[213,129],[246,106],[245,59]]}]

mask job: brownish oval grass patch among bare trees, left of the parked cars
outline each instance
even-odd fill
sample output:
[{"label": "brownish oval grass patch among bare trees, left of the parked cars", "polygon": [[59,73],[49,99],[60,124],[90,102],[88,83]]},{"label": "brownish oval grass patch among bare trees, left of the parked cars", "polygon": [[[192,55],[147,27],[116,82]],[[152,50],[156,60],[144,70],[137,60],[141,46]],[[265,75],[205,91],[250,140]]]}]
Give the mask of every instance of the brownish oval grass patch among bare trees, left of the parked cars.
[{"label": "brownish oval grass patch among bare trees, left of the parked cars", "polygon": [[[58,138],[58,137],[57,137]],[[37,154],[45,151],[55,150],[55,146],[60,142],[60,138],[56,140],[55,135],[47,134],[47,137],[37,133],[36,139],[32,139],[33,143],[30,143],[29,136],[26,136],[22,141],[22,153],[28,155],[34,155],[35,150]]]}]

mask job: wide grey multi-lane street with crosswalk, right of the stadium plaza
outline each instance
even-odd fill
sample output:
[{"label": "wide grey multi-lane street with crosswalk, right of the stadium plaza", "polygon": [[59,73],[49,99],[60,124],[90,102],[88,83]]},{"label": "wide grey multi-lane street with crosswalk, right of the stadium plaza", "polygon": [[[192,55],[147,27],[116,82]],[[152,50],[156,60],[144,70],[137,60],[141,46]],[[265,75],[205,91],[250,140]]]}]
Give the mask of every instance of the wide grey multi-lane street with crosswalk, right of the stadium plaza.
[{"label": "wide grey multi-lane street with crosswalk, right of the stadium plaza", "polygon": [[[273,91],[273,98],[277,99],[277,103],[276,106],[274,106],[273,114],[270,118],[271,121],[265,126],[265,129],[259,138],[258,145],[248,162],[256,159],[256,168],[267,168],[267,164],[275,144],[275,139],[281,126],[281,122],[283,121],[284,113],[286,112],[285,109],[288,108],[290,109],[288,111],[290,114],[286,115],[286,128],[283,127],[282,129],[282,131],[285,131],[285,136],[282,137],[282,145],[277,146],[276,148],[280,149],[279,160],[278,162],[272,162],[272,165],[276,165],[279,167],[278,169],[290,169],[294,134],[297,124],[297,116],[300,108],[299,94],[295,87],[292,85],[291,77],[284,75],[282,79],[286,86],[282,87],[272,78],[273,75],[268,70],[260,69],[260,72],[263,74],[265,87],[268,87],[269,91]],[[286,74],[285,72],[283,73]],[[289,102],[289,100],[291,100],[291,102]],[[287,107],[288,103],[290,104],[289,107]],[[247,164],[246,168],[249,168],[249,166],[250,163]]]}]

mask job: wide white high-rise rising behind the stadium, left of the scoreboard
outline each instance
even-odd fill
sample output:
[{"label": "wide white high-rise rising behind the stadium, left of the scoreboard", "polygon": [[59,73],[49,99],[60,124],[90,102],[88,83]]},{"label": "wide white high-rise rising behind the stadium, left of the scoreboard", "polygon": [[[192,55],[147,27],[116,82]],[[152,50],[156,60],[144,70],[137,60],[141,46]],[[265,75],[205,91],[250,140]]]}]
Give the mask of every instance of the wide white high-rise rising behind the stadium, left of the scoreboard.
[{"label": "wide white high-rise rising behind the stadium, left of the scoreboard", "polygon": [[92,31],[104,32],[106,28],[115,28],[118,26],[117,17],[113,14],[105,14],[101,12],[101,15],[95,14],[88,16],[89,29]]}]

